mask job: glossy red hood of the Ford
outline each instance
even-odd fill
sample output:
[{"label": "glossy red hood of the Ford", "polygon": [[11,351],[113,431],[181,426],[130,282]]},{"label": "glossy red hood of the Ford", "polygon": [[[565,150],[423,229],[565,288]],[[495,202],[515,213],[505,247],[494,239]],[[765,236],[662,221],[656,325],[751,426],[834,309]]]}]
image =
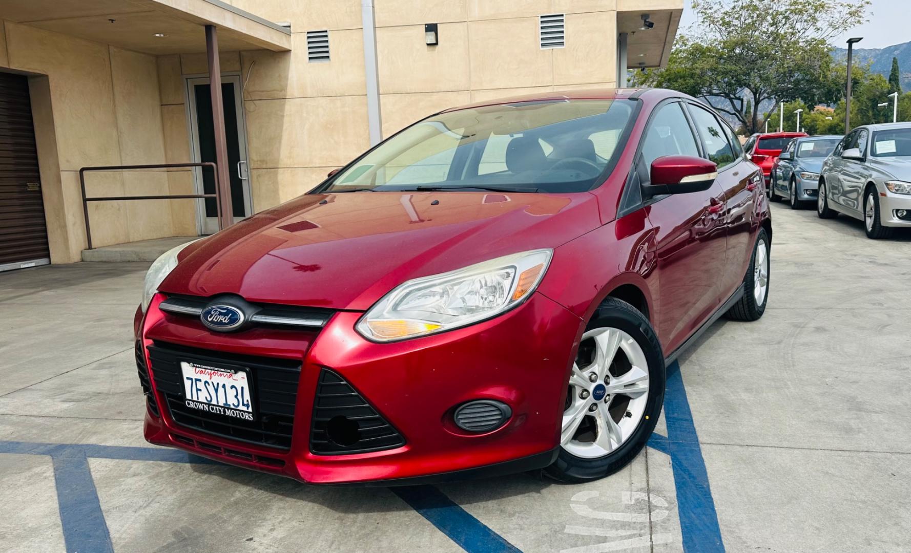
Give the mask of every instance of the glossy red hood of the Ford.
[{"label": "glossy red hood of the Ford", "polygon": [[589,192],[306,194],[192,243],[159,290],[366,310],[407,280],[556,248],[599,224]]}]

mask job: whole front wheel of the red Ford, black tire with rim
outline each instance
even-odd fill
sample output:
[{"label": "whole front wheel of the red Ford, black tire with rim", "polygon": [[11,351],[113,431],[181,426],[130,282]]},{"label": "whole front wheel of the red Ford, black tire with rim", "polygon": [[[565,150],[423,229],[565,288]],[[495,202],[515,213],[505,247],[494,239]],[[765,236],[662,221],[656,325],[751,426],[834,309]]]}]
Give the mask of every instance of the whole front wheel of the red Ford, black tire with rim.
[{"label": "whole front wheel of the red Ford, black tire with rim", "polygon": [[[591,334],[597,335],[587,338]],[[611,341],[614,337],[617,337],[618,345],[614,346],[615,353],[606,369],[609,378],[590,380],[589,375],[598,373],[598,367],[603,365],[598,363],[598,355],[591,346],[596,340],[603,338]],[[605,349],[610,351],[610,347]],[[644,369],[640,367],[640,372],[636,373],[633,369],[638,364],[647,366]],[[647,374],[645,392],[640,391],[641,377],[635,380],[635,374],[642,371]],[[624,378],[635,382],[612,387],[620,386]],[[579,383],[579,380],[582,382]],[[599,386],[602,388],[600,395]],[[579,343],[561,416],[559,453],[557,460],[544,469],[544,474],[560,482],[578,484],[612,475],[629,465],[655,429],[664,402],[664,386],[664,354],[649,319],[630,303],[607,298],[595,311]],[[630,395],[619,390],[629,390]],[[596,406],[594,413],[589,411],[591,405]],[[636,413],[633,414],[633,411]],[[600,418],[602,414],[610,415],[615,421],[621,435],[619,445],[613,445],[609,431],[601,433],[600,429],[606,427],[599,422],[603,420]],[[573,426],[571,421],[576,418],[579,423]],[[564,439],[565,435],[568,439]],[[589,436],[591,441],[587,443],[584,438]],[[609,449],[600,447],[602,437],[607,438]]]}]

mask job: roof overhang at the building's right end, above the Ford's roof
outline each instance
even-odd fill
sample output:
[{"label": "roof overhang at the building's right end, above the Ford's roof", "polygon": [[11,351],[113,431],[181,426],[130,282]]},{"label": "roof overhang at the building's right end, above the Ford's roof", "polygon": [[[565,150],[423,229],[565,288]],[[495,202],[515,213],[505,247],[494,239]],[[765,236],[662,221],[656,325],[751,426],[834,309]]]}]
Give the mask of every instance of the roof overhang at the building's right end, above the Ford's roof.
[{"label": "roof overhang at the building's right end, above the Ford's roof", "polygon": [[[627,68],[666,67],[683,0],[617,0],[617,32],[627,34]],[[654,26],[641,30],[642,15]]]}]

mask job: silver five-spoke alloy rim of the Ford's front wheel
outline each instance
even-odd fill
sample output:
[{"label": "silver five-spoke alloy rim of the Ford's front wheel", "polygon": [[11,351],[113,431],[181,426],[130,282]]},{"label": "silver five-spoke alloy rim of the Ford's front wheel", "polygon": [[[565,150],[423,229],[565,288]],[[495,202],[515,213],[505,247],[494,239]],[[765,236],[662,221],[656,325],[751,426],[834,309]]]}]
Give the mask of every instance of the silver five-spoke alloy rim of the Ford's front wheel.
[{"label": "silver five-spoke alloy rim of the Ford's front wheel", "polygon": [[560,444],[582,458],[606,456],[639,426],[649,399],[649,364],[636,340],[617,328],[582,335],[569,375]]}]

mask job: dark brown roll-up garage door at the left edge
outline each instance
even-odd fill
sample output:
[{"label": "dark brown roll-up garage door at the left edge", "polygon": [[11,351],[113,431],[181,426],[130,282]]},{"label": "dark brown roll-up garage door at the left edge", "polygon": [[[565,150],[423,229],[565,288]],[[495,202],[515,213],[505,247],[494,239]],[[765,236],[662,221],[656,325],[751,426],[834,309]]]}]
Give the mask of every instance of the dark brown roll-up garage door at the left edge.
[{"label": "dark brown roll-up garage door at the left edge", "polygon": [[28,79],[0,73],[0,271],[49,262]]}]

